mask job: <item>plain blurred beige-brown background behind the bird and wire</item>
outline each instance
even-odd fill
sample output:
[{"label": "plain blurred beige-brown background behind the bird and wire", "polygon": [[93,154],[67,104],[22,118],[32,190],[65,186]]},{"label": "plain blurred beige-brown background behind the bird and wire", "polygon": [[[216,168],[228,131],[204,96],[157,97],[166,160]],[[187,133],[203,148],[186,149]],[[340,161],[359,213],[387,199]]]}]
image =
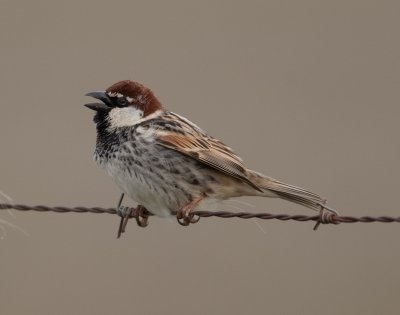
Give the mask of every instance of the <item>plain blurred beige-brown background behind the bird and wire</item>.
[{"label": "plain blurred beige-brown background behind the bird and wire", "polygon": [[[0,190],[112,207],[86,92],[122,79],[344,215],[400,215],[396,1],[0,1]],[[6,201],[3,196],[2,200]],[[133,203],[132,203],[133,204]],[[222,209],[311,214],[242,198]],[[398,314],[398,224],[2,211],[1,314]]]}]

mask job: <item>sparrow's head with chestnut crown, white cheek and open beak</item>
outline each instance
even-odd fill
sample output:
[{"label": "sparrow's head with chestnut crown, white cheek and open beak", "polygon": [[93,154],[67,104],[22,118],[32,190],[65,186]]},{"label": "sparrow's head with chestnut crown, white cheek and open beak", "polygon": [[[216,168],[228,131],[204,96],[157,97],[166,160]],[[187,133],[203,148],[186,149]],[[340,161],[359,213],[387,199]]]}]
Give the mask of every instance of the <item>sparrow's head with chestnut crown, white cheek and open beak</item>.
[{"label": "sparrow's head with chestnut crown, white cheek and open beak", "polygon": [[102,102],[85,106],[97,112],[95,122],[108,121],[111,128],[134,125],[162,110],[161,103],[149,88],[130,80],[117,82],[105,91],[90,92],[86,96]]}]

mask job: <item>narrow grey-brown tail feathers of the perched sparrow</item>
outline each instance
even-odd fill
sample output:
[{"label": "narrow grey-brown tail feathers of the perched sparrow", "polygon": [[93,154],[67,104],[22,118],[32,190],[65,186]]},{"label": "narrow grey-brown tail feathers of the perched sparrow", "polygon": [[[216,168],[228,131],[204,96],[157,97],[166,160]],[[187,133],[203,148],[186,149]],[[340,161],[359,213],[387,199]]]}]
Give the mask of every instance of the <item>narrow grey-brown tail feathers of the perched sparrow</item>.
[{"label": "narrow grey-brown tail feathers of the perched sparrow", "polygon": [[316,211],[327,208],[325,206],[326,200],[324,198],[308,190],[282,183],[254,171],[250,171],[249,175],[250,180],[260,187],[264,193],[272,192],[272,195],[275,195],[276,197],[280,197]]}]

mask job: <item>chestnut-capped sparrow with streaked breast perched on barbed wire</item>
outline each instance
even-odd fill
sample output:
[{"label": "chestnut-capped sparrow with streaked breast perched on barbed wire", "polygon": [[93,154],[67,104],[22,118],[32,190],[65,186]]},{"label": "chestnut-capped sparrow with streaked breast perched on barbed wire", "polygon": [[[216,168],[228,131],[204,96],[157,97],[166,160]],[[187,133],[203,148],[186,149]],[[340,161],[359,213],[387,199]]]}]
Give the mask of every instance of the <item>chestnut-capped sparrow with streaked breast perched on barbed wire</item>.
[{"label": "chestnut-capped sparrow with streaked breast perched on barbed wire", "polygon": [[176,214],[184,226],[197,221],[191,215],[195,209],[241,196],[277,197],[335,211],[316,193],[247,168],[230,147],[165,109],[139,82],[119,81],[86,96],[100,101],[85,104],[96,112],[94,160],[122,191],[117,206],[122,217],[128,216],[128,208],[121,206],[125,194],[138,203],[142,215]]}]

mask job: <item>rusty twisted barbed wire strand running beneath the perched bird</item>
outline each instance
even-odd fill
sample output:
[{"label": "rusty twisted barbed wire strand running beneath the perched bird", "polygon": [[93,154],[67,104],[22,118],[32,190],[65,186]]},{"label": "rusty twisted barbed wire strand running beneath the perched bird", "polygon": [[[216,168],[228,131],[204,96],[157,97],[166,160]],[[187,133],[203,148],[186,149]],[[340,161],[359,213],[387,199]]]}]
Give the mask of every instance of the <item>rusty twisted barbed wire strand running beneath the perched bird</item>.
[{"label": "rusty twisted barbed wire strand running beneath the perched bird", "polygon": [[[76,212],[76,213],[108,213],[108,214],[116,214],[117,211],[115,208],[101,208],[101,207],[49,207],[49,206],[28,206],[28,205],[19,205],[19,204],[9,204],[9,203],[0,203],[0,210],[5,209],[14,209],[20,211],[41,211],[41,212],[57,212],[57,213],[66,213],[66,212]],[[280,221],[298,221],[298,222],[306,222],[306,221],[315,221],[321,222],[321,215],[307,216],[307,215],[288,215],[288,214],[270,214],[270,213],[249,213],[249,212],[229,212],[229,211],[193,211],[193,215],[202,218],[209,217],[217,217],[217,218],[240,218],[240,219],[262,219],[262,220],[280,220]],[[153,215],[151,213],[147,213],[146,215]],[[138,213],[135,211],[131,212],[131,218],[137,218]],[[400,223],[400,217],[390,217],[390,216],[379,216],[379,217],[371,217],[371,216],[363,216],[363,217],[352,217],[352,216],[338,216],[336,214],[331,214],[327,216],[321,223],[324,224],[339,224],[339,223],[371,223],[371,222],[382,222],[382,223],[392,223],[397,222]]]}]

